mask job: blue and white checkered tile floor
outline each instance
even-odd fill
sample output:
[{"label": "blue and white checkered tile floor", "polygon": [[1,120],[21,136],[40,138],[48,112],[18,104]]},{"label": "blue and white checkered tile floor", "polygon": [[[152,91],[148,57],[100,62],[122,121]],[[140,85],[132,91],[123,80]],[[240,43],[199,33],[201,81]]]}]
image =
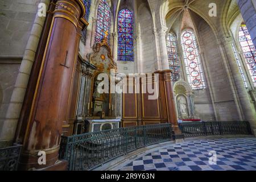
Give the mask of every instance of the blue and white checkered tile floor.
[{"label": "blue and white checkered tile floor", "polygon": [[[209,164],[216,151],[216,164]],[[121,171],[256,171],[256,138],[202,139],[173,144],[146,154]]]}]

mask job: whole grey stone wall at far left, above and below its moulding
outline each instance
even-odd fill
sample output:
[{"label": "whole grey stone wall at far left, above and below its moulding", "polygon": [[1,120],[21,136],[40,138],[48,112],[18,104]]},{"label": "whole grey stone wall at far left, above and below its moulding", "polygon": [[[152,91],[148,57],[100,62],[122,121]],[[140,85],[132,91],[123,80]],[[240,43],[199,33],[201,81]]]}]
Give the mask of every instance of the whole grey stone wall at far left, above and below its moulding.
[{"label": "whole grey stone wall at far left, above and below its moulding", "polygon": [[[39,0],[0,1],[0,93],[2,93],[0,96],[0,134],[19,73],[20,63],[31,34],[38,3]],[[24,79],[20,81],[26,83],[26,78]],[[15,131],[15,128],[11,130],[10,133]]]}]

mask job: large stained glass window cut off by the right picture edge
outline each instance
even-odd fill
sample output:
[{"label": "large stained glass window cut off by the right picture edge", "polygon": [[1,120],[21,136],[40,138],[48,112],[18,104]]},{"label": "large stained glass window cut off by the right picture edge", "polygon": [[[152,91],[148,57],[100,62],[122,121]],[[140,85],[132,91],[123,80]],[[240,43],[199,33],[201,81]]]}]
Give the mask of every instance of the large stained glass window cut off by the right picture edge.
[{"label": "large stained glass window cut off by the right picture edge", "polygon": [[239,42],[242,47],[243,56],[245,57],[251,79],[254,82],[254,86],[256,86],[256,50],[245,24],[242,24],[239,28]]}]

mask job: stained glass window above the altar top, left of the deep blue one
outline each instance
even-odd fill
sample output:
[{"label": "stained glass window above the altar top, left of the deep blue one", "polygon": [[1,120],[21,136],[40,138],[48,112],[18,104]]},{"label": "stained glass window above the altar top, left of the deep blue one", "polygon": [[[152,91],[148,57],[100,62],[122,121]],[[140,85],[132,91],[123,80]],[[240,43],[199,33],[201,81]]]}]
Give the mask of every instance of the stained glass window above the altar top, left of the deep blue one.
[{"label": "stained glass window above the altar top, left of the deep blue one", "polygon": [[106,31],[108,31],[108,34],[110,33],[110,7],[106,0],[101,0],[98,5],[95,42],[101,42]]}]

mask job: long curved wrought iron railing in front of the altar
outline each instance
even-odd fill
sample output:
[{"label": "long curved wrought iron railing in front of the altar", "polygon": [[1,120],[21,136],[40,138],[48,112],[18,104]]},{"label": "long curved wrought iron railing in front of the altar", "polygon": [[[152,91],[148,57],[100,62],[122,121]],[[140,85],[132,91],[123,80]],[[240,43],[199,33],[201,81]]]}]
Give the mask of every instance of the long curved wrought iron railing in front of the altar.
[{"label": "long curved wrought iron railing in front of the altar", "polygon": [[62,137],[60,158],[72,171],[90,170],[151,144],[172,140],[170,123],[126,127]]}]

